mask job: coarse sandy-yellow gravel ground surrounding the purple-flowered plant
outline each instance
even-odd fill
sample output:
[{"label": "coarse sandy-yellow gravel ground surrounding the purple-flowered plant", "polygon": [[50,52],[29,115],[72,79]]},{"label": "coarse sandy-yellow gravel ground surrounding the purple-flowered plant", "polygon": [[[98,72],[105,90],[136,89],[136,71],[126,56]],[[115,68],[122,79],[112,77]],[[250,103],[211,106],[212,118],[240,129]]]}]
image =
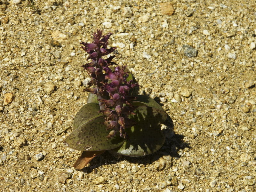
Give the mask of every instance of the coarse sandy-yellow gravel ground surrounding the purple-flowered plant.
[{"label": "coarse sandy-yellow gravel ground surrounding the purple-flowered plant", "polygon": [[[164,1],[0,1],[0,191],[256,191],[255,1]],[[170,118],[156,153],[78,171],[62,141],[97,28]]]}]

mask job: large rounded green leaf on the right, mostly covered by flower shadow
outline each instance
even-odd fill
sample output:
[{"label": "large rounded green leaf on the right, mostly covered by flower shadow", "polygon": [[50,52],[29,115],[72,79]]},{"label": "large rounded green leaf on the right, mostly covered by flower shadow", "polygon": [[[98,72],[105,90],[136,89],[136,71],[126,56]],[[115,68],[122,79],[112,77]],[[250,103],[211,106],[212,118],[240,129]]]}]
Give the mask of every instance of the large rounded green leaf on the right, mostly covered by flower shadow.
[{"label": "large rounded green leaf on the right, mostly covered by flower shadow", "polygon": [[165,112],[147,106],[140,106],[134,112],[136,115],[131,115],[130,118],[137,124],[125,129],[129,140],[113,150],[125,156],[144,156],[156,152],[165,140],[160,127]]}]

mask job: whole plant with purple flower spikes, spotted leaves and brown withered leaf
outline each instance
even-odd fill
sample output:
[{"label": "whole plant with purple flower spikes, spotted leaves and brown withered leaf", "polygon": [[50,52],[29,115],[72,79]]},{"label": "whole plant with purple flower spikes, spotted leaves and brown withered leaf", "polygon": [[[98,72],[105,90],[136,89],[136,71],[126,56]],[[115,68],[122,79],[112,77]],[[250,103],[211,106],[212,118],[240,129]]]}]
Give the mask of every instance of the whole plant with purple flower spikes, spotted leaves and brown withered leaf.
[{"label": "whole plant with purple flower spikes, spotted leaves and brown withered leaf", "polygon": [[[154,153],[164,144],[160,124],[167,114],[153,99],[133,95],[139,85],[126,66],[107,56],[116,47],[108,48],[111,33],[93,33],[93,42],[82,48],[91,60],[82,67],[91,81],[84,91],[89,92],[87,104],[76,114],[74,131],[64,141],[68,147],[83,151],[73,165],[83,169],[95,156],[111,150],[125,156],[144,156]],[[105,59],[104,59],[105,58]]]}]

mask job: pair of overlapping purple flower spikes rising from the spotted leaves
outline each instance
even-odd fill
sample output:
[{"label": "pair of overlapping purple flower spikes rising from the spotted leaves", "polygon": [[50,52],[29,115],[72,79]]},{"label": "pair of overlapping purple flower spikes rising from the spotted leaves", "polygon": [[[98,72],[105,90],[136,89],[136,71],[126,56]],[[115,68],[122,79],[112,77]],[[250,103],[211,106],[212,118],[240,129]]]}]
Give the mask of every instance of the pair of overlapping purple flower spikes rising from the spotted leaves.
[{"label": "pair of overlapping purple flower spikes rising from the spotted leaves", "polygon": [[104,124],[108,130],[111,130],[107,138],[112,138],[119,132],[122,138],[127,139],[125,128],[135,124],[128,118],[130,114],[135,115],[133,112],[135,107],[131,103],[135,98],[129,96],[129,91],[139,85],[133,83],[132,80],[126,80],[129,76],[124,71],[126,66],[122,66],[122,68],[117,66],[114,70],[109,68],[111,65],[116,65],[115,62],[112,62],[115,55],[109,56],[107,59],[102,58],[116,49],[116,47],[108,48],[108,39],[112,33],[109,32],[103,36],[102,31],[97,29],[97,32],[92,35],[92,43],[81,42],[84,45],[82,48],[89,54],[87,60],[92,60],[82,67],[91,76],[89,85],[94,85],[93,88],[85,88],[84,91],[97,94],[100,112],[106,116]]}]

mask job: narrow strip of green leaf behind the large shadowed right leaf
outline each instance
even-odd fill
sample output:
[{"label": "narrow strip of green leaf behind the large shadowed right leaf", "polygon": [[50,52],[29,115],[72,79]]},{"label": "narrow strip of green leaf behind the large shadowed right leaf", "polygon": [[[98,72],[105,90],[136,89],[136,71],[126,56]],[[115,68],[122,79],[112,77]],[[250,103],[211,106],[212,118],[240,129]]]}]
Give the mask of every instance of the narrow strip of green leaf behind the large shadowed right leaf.
[{"label": "narrow strip of green leaf behind the large shadowed right leaf", "polygon": [[[146,95],[134,95],[134,97],[136,97],[136,99],[132,101],[132,104],[134,106],[148,106],[164,112],[164,109],[155,100],[151,99],[150,97]],[[167,114],[165,112],[162,113],[161,119],[163,121],[161,121],[161,123],[163,123],[166,120],[166,118],[167,118]]]}]

